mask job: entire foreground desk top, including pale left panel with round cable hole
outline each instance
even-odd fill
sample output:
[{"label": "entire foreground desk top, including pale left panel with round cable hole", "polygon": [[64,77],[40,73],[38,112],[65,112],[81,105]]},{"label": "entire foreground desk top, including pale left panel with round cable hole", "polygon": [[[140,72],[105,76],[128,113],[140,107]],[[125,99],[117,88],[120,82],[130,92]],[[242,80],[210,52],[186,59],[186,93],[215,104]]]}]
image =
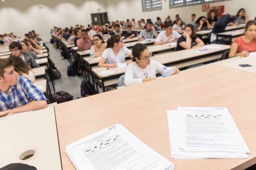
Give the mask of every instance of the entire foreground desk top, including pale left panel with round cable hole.
[{"label": "entire foreground desk top, including pale left panel with round cable hole", "polygon": [[[254,73],[234,69],[231,67],[234,63],[230,62],[251,64]],[[37,169],[75,170],[65,146],[116,123],[172,161],[176,170],[250,167],[256,162],[254,63],[255,58],[244,63],[235,57],[167,78],[61,103],[54,108],[49,105],[46,109],[2,117],[0,167],[22,162],[19,155],[35,149],[37,154],[23,163]],[[227,107],[251,151],[249,158],[171,158],[166,111],[178,106]]]}]

